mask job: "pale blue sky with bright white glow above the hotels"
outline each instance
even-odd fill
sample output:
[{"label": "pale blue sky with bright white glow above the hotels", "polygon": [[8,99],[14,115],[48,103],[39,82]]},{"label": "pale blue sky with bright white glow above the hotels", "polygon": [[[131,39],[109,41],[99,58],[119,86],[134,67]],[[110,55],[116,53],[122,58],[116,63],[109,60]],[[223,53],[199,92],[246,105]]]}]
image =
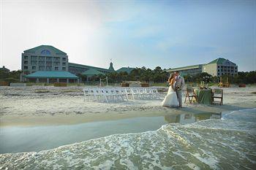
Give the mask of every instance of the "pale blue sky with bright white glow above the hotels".
[{"label": "pale blue sky with bright white glow above the hotels", "polygon": [[0,0],[0,66],[53,45],[69,62],[162,69],[227,58],[256,70],[256,0]]}]

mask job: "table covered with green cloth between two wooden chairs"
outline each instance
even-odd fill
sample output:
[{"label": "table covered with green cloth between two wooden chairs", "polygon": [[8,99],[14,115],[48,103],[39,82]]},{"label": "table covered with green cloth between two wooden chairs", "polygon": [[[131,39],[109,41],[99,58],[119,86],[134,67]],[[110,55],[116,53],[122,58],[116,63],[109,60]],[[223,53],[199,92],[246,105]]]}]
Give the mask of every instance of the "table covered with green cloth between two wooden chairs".
[{"label": "table covered with green cloth between two wooden chairs", "polygon": [[199,104],[212,104],[211,89],[194,89]]}]

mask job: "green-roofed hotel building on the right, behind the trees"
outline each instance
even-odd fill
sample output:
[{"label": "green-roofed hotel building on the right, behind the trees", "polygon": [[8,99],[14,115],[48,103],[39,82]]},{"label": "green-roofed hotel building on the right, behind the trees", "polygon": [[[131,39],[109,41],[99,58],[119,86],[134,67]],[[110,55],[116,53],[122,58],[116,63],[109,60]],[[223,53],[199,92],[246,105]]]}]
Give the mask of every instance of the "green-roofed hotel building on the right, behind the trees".
[{"label": "green-roofed hotel building on the right, behind the trees", "polygon": [[196,75],[202,72],[207,72],[208,74],[217,77],[221,77],[222,75],[236,76],[238,74],[238,66],[236,63],[225,58],[217,58],[210,63],[167,69],[167,72],[175,71],[179,71],[182,75]]}]

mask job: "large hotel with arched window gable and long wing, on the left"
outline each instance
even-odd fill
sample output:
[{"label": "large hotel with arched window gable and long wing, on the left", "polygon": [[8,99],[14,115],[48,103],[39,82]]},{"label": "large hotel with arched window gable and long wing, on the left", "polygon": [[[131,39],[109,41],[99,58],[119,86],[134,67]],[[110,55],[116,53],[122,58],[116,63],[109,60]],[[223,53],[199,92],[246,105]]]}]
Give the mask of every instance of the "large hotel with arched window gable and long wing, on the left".
[{"label": "large hotel with arched window gable and long wing, on the left", "polygon": [[32,82],[79,82],[78,75],[86,76],[89,81],[95,75],[105,75],[110,72],[132,72],[135,68],[122,67],[115,71],[110,62],[108,69],[87,66],[80,63],[69,63],[67,53],[50,45],[25,50],[22,53],[21,81]]}]

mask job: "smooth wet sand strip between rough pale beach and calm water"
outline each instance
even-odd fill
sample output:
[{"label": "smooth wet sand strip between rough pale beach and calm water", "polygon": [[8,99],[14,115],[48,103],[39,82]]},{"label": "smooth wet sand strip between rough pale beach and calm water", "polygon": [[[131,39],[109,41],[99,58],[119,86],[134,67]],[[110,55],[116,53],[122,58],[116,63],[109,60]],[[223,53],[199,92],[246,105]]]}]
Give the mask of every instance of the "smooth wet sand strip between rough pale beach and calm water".
[{"label": "smooth wet sand strip between rough pale beach and calm water", "polygon": [[[193,104],[194,105],[194,104]],[[195,105],[192,107],[184,107],[181,109],[165,108],[165,110],[148,109],[144,111],[124,111],[124,112],[99,112],[86,113],[82,115],[2,115],[0,116],[0,128],[10,127],[28,127],[42,125],[75,125],[80,123],[100,122],[109,120],[121,120],[134,117],[158,117],[165,115],[180,115],[180,114],[200,114],[200,113],[220,113],[230,112],[240,109],[256,108],[256,101],[243,102],[235,104],[219,105]]]}]

